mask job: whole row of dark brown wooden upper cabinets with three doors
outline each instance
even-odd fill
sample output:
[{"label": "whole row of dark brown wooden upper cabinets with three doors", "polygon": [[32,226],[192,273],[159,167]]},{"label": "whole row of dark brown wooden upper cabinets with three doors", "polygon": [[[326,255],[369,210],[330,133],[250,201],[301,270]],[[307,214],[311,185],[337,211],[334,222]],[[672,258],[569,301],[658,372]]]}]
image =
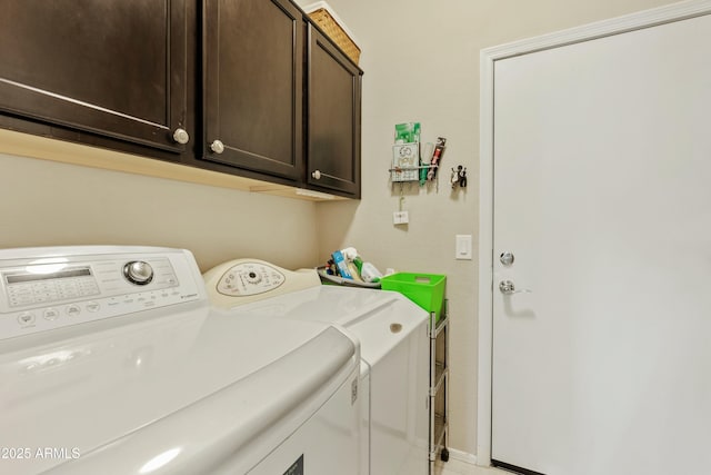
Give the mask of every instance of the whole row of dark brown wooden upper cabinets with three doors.
[{"label": "whole row of dark brown wooden upper cabinets with three doors", "polygon": [[292,0],[0,13],[0,128],[360,198],[362,71]]}]

